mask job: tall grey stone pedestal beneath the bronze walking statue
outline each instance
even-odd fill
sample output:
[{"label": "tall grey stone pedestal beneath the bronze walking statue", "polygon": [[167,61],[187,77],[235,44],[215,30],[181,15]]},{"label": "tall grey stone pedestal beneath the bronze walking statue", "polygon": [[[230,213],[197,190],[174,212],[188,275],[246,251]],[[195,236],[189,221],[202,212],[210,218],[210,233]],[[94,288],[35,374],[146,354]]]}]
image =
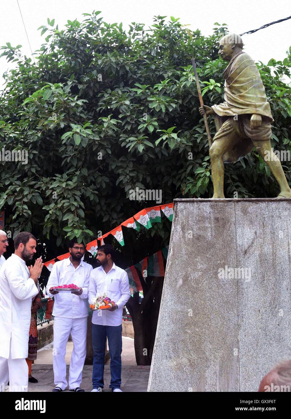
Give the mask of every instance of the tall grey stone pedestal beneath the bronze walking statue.
[{"label": "tall grey stone pedestal beneath the bronze walking statue", "polygon": [[175,199],[148,391],[257,391],[291,358],[291,199]]}]

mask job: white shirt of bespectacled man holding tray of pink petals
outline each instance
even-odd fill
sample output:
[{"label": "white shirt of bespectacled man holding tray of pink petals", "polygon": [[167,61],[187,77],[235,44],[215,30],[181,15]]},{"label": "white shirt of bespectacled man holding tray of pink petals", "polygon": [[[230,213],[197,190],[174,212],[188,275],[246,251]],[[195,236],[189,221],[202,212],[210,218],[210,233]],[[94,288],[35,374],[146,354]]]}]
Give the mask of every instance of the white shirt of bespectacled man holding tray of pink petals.
[{"label": "white shirt of bespectacled man holding tray of pink petals", "polygon": [[[88,286],[89,276],[92,271],[92,266],[81,260],[79,266],[71,263],[70,258],[63,259],[56,262],[52,267],[47,282],[47,295],[55,297],[53,316],[67,317],[67,318],[81,318],[88,316]],[[81,295],[75,295],[71,292],[59,292],[52,295],[49,288],[57,287],[58,285],[75,284],[77,287],[83,289]]]}]

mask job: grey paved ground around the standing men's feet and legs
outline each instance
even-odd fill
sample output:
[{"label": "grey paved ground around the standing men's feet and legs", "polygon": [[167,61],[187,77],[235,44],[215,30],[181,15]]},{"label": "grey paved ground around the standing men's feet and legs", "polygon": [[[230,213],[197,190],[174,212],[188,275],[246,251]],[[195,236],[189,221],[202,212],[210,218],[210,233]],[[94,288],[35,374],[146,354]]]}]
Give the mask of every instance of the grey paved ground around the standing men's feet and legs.
[{"label": "grey paved ground around the standing men's feet and legs", "polygon": [[[73,342],[67,344],[67,380]],[[127,392],[147,391],[150,366],[138,366],[135,362],[133,339],[122,337],[122,374],[121,390]],[[110,362],[110,361],[109,361]],[[110,384],[110,363],[107,362],[104,369],[104,389],[111,391]],[[29,391],[52,391],[54,385],[54,373],[52,370],[52,343],[48,344],[37,352],[37,360],[32,365],[32,376],[37,378],[37,384],[29,383]],[[92,365],[84,365],[81,387],[85,391],[92,390]],[[66,390],[66,392],[71,393]]]}]

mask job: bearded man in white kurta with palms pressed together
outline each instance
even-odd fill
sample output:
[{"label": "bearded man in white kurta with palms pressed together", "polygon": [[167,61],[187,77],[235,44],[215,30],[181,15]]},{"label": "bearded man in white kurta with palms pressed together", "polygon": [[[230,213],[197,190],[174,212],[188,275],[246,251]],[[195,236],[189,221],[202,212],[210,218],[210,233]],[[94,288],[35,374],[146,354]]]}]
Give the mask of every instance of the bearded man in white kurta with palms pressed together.
[{"label": "bearded man in white kurta with palms pressed together", "polygon": [[37,280],[42,259],[29,268],[25,261],[36,253],[36,239],[23,232],[14,241],[15,253],[0,270],[0,391],[8,383],[10,391],[27,391],[31,298],[38,292]]}]

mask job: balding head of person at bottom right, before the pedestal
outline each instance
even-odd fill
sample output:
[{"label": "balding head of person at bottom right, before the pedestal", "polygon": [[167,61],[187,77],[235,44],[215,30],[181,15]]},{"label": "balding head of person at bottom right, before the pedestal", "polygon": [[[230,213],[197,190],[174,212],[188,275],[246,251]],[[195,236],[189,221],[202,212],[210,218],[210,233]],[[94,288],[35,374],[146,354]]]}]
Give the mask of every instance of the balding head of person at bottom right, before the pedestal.
[{"label": "balding head of person at bottom right, before the pedestal", "polygon": [[281,392],[291,391],[291,360],[282,361],[275,365],[273,370],[260,382],[260,392]]}]

